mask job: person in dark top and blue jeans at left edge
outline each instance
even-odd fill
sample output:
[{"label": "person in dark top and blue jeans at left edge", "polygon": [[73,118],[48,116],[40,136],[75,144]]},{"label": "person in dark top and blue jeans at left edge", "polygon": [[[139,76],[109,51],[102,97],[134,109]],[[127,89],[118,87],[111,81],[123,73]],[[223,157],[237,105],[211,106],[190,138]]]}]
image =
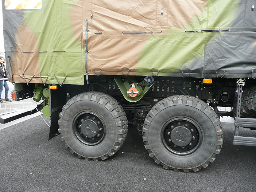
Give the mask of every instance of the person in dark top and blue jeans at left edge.
[{"label": "person in dark top and blue jeans at left edge", "polygon": [[[0,56],[0,79],[3,79],[3,78],[7,78],[7,75],[5,73],[4,58]],[[10,101],[10,99],[8,98],[9,86],[5,80],[0,80],[0,96],[3,91],[3,86],[5,88],[5,91],[4,91],[5,99],[1,98],[1,103],[4,103],[3,100]]]}]

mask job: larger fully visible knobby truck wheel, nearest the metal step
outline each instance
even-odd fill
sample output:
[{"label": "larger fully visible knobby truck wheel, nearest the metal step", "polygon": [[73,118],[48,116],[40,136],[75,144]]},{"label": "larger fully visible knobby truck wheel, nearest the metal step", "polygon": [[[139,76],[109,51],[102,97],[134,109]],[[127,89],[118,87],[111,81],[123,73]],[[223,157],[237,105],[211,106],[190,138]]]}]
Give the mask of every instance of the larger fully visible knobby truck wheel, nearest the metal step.
[{"label": "larger fully visible knobby truck wheel, nearest the metal step", "polygon": [[220,153],[223,133],[209,105],[176,95],[152,107],[144,121],[143,141],[150,157],[165,169],[197,172]]}]

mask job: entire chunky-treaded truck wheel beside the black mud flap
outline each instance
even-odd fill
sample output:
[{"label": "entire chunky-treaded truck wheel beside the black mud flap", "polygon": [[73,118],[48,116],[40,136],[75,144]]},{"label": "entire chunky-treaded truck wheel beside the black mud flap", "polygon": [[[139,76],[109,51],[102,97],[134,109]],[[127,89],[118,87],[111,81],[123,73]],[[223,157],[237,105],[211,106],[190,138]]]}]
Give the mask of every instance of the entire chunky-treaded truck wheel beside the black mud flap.
[{"label": "entire chunky-treaded truck wheel beside the black mud flap", "polygon": [[86,92],[71,98],[59,114],[59,133],[71,153],[86,160],[105,160],[127,136],[123,107],[110,95]]}]

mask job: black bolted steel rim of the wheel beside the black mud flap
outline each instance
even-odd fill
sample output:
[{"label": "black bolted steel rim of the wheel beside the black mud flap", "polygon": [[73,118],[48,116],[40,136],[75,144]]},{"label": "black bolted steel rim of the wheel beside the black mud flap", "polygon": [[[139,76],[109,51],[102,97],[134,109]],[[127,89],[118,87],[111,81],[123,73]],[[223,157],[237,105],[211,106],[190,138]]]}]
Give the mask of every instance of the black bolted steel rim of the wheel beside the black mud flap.
[{"label": "black bolted steel rim of the wheel beside the black mud flap", "polygon": [[103,140],[106,127],[97,114],[85,111],[75,117],[73,131],[83,144],[97,145]]}]

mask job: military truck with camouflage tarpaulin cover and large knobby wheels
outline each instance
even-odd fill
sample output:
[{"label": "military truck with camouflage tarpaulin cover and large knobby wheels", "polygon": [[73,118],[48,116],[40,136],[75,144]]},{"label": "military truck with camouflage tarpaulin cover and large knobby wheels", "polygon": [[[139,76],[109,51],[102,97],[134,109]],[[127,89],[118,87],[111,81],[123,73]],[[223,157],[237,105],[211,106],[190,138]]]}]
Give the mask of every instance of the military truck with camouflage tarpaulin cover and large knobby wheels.
[{"label": "military truck with camouflage tarpaulin cover and large knobby wheels", "polygon": [[[15,99],[43,101],[49,139],[105,160],[128,124],[174,171],[206,168],[235,119],[235,145],[256,146],[254,0],[2,0],[5,56]],[[233,107],[219,111],[218,107]],[[231,108],[230,108],[231,109]],[[39,125],[40,126],[40,125]]]}]

